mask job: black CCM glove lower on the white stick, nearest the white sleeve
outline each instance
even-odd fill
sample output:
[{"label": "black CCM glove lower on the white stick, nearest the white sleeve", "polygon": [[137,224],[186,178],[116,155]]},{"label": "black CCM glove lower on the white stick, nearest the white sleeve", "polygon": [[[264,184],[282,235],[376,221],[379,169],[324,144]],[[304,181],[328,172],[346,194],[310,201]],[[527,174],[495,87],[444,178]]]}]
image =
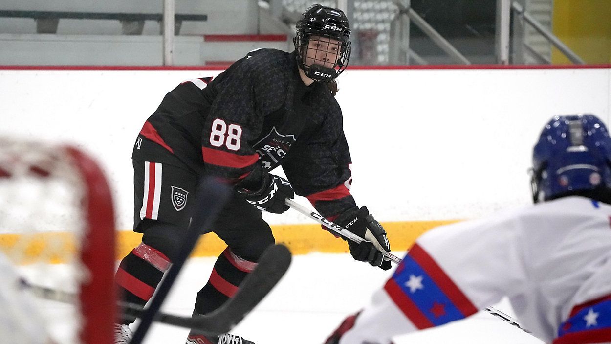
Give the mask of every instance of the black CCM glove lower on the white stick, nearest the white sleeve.
[{"label": "black CCM glove lower on the white stick, nearest the white sleeve", "polygon": [[350,254],[354,259],[366,261],[372,266],[379,266],[383,270],[390,269],[389,258],[384,257],[382,252],[377,249],[372,242],[372,240],[377,241],[376,244],[379,244],[379,247],[389,252],[390,244],[386,237],[386,231],[378,221],[373,219],[373,215],[369,214],[367,207],[362,207],[357,211],[349,209],[335,219],[335,223],[343,226],[343,228],[346,228],[346,230],[351,231],[357,236],[368,240],[357,244],[354,241],[344,238],[348,241]]}]

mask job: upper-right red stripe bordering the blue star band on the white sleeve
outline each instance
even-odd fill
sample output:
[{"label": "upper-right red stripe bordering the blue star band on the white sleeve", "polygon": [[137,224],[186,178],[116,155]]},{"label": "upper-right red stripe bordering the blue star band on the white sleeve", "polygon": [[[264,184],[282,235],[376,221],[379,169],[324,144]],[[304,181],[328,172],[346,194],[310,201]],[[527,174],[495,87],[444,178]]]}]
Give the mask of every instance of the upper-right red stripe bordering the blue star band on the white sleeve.
[{"label": "upper-right red stripe bordering the blue star band on the white sleeve", "polygon": [[445,274],[444,270],[437,265],[433,258],[426,253],[417,243],[409,250],[411,256],[424,271],[431,277],[435,284],[441,289],[452,303],[463,313],[469,316],[477,312],[474,304],[467,296],[456,286],[456,284]]}]

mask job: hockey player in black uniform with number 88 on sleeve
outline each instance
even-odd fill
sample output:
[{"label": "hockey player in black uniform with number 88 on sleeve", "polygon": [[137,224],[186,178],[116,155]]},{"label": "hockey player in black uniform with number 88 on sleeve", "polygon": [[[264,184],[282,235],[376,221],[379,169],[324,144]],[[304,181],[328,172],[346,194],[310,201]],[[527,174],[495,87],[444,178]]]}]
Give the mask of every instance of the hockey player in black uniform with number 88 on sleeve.
[{"label": "hockey player in black uniform with number 88 on sleeve", "polygon": [[[313,5],[296,25],[293,53],[251,51],[214,80],[185,81],[164,97],[133,151],[134,231],[144,234],[117,271],[125,301],[145,304],[153,295],[188,228],[203,174],[235,185],[235,195],[210,228],[228,247],[197,293],[195,314],[232,297],[274,244],[261,211],[287,211],[293,190],[328,219],[361,237],[370,231],[390,250],[382,226],[349,192],[351,160],[334,98],[335,78],[348,64],[349,34],[342,11]],[[290,184],[269,173],[280,164]],[[356,260],[390,268],[371,242],[348,245]],[[119,337],[128,336],[126,323],[117,325],[125,332]],[[252,342],[191,332],[187,343]]]}]

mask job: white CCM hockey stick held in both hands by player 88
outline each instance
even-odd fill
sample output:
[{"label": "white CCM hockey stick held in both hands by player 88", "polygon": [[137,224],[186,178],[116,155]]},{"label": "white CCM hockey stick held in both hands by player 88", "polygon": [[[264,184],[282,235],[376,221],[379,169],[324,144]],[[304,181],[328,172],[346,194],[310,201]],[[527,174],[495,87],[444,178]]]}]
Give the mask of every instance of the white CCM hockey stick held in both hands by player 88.
[{"label": "white CCM hockey stick held in both hands by player 88", "polygon": [[[378,241],[375,238],[368,238],[367,236],[365,236],[365,239],[363,239],[360,236],[357,236],[356,234],[352,233],[351,231],[346,230],[345,228],[343,228],[342,226],[338,225],[337,223],[334,223],[332,221],[329,221],[327,219],[325,219],[323,217],[323,215],[320,215],[316,212],[310,211],[309,209],[305,208],[304,206],[299,205],[298,203],[296,203],[295,201],[291,200],[290,198],[287,198],[287,200],[285,200],[285,203],[287,204],[287,206],[289,206],[290,208],[295,209],[298,212],[301,212],[301,214],[304,214],[305,216],[309,217],[310,219],[315,220],[316,222],[320,223],[321,225],[326,226],[327,228],[329,228],[329,230],[340,234],[343,237],[346,237],[348,239],[350,239],[351,241],[354,242],[362,242],[362,241],[370,241],[371,243],[373,243],[373,245],[375,245],[376,249],[380,250],[380,252],[382,252],[382,254],[384,256],[386,256],[387,258],[389,258],[391,261],[393,261],[394,263],[400,264],[401,263],[401,258],[398,258],[397,256],[393,255],[392,253],[386,252],[384,249],[382,249],[382,247],[378,244]],[[486,307],[484,308],[484,310],[488,313],[490,313],[491,315],[496,316],[497,318],[499,318],[500,320],[505,321],[506,323],[509,323],[513,326],[518,327],[519,329],[521,329],[522,331],[528,333],[528,334],[532,334],[532,332],[530,332],[529,330],[525,329],[524,327],[520,326],[520,324],[518,323],[518,321],[514,320],[513,318],[511,318],[511,316],[501,312],[500,310],[497,310],[494,307]]]}]

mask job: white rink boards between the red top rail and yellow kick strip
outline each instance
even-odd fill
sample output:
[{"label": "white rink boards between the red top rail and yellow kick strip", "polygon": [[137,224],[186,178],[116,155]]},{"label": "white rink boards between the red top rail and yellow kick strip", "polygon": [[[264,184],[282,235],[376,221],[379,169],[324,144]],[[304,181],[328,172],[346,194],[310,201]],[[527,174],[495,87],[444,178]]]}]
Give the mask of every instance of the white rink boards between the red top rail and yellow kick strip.
[{"label": "white rink boards between the red top rail and yellow kick strip", "polygon": [[[0,69],[0,135],[69,141],[97,156],[128,230],[142,123],[180,81],[218,73]],[[529,204],[531,149],[549,118],[589,112],[609,122],[611,112],[611,69],[347,70],[338,81],[353,195],[382,221]],[[266,219],[311,223],[293,211]]]}]

